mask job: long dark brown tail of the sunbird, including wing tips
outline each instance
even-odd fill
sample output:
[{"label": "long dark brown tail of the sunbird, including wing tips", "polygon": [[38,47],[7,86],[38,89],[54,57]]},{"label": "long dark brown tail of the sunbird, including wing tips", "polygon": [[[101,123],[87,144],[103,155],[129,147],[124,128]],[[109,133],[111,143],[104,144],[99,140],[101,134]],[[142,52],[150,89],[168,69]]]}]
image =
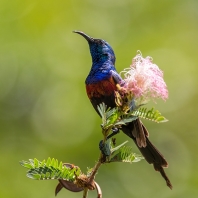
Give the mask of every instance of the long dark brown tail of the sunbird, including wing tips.
[{"label": "long dark brown tail of the sunbird, including wing tips", "polygon": [[137,119],[126,126],[122,126],[122,131],[134,140],[145,160],[149,164],[153,164],[154,169],[161,173],[167,186],[172,189],[172,184],[163,169],[163,167],[168,167],[168,163],[157,148],[149,141],[149,133],[142,122]]}]

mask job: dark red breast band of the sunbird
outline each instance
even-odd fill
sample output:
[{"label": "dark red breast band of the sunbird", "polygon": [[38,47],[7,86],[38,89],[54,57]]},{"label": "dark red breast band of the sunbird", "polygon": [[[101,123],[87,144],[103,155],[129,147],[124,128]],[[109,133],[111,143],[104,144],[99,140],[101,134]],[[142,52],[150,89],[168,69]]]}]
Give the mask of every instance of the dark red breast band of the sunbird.
[{"label": "dark red breast band of the sunbird", "polygon": [[98,81],[97,83],[87,84],[86,90],[89,99],[100,98],[102,96],[110,96],[114,94],[116,84],[111,77],[107,80]]}]

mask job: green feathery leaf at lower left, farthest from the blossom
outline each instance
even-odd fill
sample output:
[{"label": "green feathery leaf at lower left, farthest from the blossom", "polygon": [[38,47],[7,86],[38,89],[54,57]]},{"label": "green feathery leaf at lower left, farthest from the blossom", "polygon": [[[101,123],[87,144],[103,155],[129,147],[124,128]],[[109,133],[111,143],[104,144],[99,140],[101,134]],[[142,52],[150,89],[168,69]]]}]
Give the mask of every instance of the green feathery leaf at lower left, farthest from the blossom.
[{"label": "green feathery leaf at lower left, farthest from the blossom", "polygon": [[40,162],[36,158],[29,159],[29,161],[21,161],[20,164],[28,168],[27,177],[36,180],[64,179],[72,182],[81,174],[79,167],[65,166],[54,158],[48,158],[46,162],[45,160]]}]

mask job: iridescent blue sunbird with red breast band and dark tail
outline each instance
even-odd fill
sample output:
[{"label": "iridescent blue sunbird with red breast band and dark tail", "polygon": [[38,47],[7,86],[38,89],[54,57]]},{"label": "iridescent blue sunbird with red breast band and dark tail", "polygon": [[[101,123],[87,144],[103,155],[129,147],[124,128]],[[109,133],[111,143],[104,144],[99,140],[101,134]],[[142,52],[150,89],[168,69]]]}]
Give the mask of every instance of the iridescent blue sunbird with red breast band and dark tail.
[{"label": "iridescent blue sunbird with red breast band and dark tail", "polygon": [[[116,107],[115,91],[117,85],[123,86],[124,80],[116,71],[116,57],[112,47],[103,39],[93,38],[78,30],[73,32],[84,37],[89,45],[92,66],[85,85],[93,108],[99,114],[97,106],[101,103],[105,103],[108,108]],[[154,169],[160,172],[166,181],[166,185],[172,189],[172,184],[164,171],[164,168],[168,167],[168,162],[149,140],[148,130],[142,121],[138,118],[123,125],[121,130],[134,141],[145,160],[153,164]]]}]

